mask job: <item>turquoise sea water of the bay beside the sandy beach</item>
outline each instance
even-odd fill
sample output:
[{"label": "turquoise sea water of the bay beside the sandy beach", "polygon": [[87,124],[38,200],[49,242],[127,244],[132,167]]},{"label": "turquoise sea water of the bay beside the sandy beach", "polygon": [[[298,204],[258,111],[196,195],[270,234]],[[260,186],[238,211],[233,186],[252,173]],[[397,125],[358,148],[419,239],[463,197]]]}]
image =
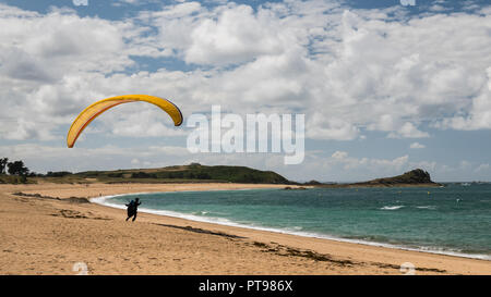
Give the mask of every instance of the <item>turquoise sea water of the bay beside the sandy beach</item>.
[{"label": "turquoise sea water of the bay beside the sandy beach", "polygon": [[[430,193],[430,194],[429,194]],[[103,203],[304,236],[491,260],[491,185],[127,195]]]}]

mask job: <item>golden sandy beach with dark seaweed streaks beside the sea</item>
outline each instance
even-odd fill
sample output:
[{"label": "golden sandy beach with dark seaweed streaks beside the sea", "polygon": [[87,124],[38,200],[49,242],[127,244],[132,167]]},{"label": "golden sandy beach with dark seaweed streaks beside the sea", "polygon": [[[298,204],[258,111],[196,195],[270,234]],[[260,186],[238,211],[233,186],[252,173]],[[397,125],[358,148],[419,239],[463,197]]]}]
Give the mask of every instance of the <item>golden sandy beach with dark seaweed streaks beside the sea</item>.
[{"label": "golden sandy beach with dark seaweed streaks beside the sea", "polygon": [[[86,202],[147,191],[284,187],[250,184],[0,185],[0,274],[491,274],[491,261],[139,213]],[[13,195],[22,191],[25,196]],[[37,195],[38,194],[38,195]],[[37,195],[37,197],[35,196]],[[49,198],[51,197],[51,198]],[[71,198],[72,197],[72,198]],[[58,199],[57,199],[58,198]]]}]

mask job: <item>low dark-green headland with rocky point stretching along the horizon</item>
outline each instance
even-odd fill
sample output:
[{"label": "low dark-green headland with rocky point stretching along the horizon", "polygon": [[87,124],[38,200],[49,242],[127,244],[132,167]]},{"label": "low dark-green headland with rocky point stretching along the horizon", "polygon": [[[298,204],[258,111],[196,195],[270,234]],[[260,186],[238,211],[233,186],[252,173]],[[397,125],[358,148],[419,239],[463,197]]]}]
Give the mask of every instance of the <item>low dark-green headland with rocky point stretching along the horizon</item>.
[{"label": "low dark-green headland with rocky point stretching along the horizon", "polygon": [[344,187],[406,187],[406,186],[441,186],[431,181],[430,174],[421,169],[406,172],[393,177],[376,178],[351,184],[323,184],[311,181],[304,184],[288,181],[273,171],[261,171],[247,166],[217,165],[208,166],[199,163],[158,169],[130,169],[112,171],[85,171],[71,173],[67,171],[31,173],[26,176],[0,174],[0,184],[32,183],[243,183],[243,184],[284,184],[309,185],[325,188]]}]

